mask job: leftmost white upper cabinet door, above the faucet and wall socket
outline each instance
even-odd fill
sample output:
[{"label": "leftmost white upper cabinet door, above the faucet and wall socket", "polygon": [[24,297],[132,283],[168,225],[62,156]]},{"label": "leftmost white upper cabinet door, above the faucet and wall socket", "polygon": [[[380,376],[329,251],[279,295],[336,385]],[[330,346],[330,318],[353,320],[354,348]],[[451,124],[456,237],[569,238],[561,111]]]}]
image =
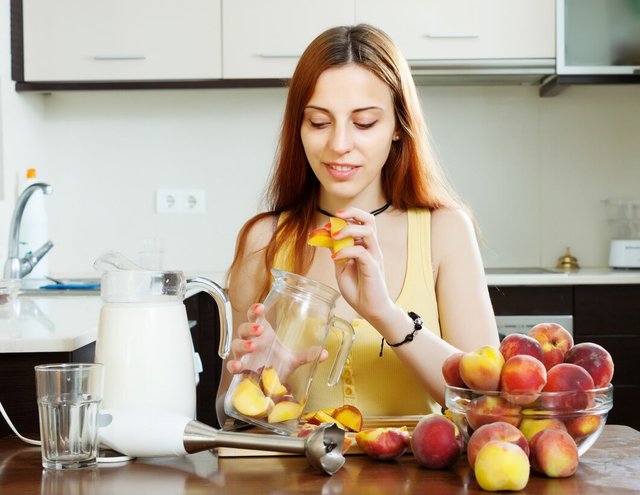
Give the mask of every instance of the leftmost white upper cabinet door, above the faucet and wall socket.
[{"label": "leftmost white upper cabinet door, above the faucet and wall socket", "polygon": [[220,78],[220,0],[23,0],[25,81]]}]

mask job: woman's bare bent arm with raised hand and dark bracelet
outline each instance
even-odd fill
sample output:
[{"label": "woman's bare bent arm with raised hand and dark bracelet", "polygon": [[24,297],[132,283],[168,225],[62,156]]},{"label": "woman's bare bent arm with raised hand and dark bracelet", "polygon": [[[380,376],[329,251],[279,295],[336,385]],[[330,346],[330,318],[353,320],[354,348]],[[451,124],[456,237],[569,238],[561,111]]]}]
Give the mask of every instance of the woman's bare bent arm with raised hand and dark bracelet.
[{"label": "woman's bare bent arm with raised hand and dark bracelet", "polygon": [[[351,214],[350,210],[347,214]],[[359,215],[356,212],[356,215]],[[388,342],[401,342],[413,329],[413,321],[396,306],[386,291],[375,227],[366,215],[361,226],[345,227],[342,235],[364,236],[363,246],[345,248],[337,256],[352,258],[336,266],[345,299]],[[418,332],[405,345],[393,347],[416,374],[424,389],[444,404],[442,363],[456,350],[499,345],[482,260],[473,225],[460,210],[443,209],[432,215],[432,263],[443,339],[432,332]],[[344,251],[344,252],[343,252]],[[357,276],[354,272],[357,271]]]}]

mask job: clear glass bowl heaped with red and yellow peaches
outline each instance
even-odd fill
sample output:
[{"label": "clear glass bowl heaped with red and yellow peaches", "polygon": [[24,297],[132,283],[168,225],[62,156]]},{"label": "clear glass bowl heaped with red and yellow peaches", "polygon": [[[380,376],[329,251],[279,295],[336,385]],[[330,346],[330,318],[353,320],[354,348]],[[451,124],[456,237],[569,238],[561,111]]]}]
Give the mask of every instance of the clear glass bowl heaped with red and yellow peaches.
[{"label": "clear glass bowl heaped with red and yellow peaches", "polygon": [[579,455],[594,444],[613,407],[613,360],[598,344],[574,345],[562,330],[544,330],[542,337],[555,336],[553,345],[545,346],[535,332],[513,334],[500,348],[482,346],[445,360],[447,415],[466,442],[483,425],[502,421],[529,443],[540,431],[559,429],[573,439]]}]

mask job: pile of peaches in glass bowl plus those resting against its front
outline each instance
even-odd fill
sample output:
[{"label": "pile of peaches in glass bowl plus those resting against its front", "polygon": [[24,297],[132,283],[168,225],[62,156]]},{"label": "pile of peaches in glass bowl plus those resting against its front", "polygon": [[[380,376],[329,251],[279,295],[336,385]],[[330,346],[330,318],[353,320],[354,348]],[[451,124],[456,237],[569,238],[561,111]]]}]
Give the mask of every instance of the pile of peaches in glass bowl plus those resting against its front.
[{"label": "pile of peaches in glass bowl plus those resting against its front", "polygon": [[553,478],[575,473],[578,445],[603,425],[605,415],[592,411],[596,397],[610,388],[613,370],[606,349],[574,345],[555,323],[508,335],[498,349],[449,356],[442,366],[448,406],[467,429],[467,457],[478,484],[520,490],[530,469]]}]

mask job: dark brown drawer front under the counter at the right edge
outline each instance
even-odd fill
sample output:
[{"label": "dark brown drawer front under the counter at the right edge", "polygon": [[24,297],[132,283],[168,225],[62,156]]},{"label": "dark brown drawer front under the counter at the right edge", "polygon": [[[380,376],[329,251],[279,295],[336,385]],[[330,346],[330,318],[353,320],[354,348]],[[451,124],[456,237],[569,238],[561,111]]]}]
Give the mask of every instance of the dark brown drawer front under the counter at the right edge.
[{"label": "dark brown drawer front under the counter at the right edge", "polygon": [[573,323],[576,335],[640,335],[640,285],[575,286]]}]

